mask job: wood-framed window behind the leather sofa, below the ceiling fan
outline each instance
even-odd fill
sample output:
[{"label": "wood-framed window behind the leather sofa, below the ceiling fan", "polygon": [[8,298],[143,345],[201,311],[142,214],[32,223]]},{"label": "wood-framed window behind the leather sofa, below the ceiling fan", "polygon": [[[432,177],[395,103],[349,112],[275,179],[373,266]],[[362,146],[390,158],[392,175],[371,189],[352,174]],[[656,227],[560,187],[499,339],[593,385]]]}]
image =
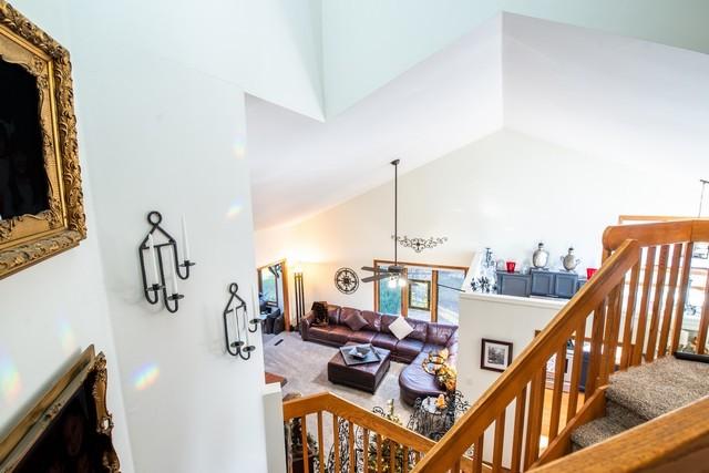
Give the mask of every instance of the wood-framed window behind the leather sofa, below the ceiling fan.
[{"label": "wood-framed window behind the leather sofa, below the ceiling fan", "polygon": [[[391,261],[374,261],[386,269]],[[402,264],[408,285],[390,286],[388,279],[374,284],[374,310],[412,319],[458,325],[460,289],[467,268]]]}]

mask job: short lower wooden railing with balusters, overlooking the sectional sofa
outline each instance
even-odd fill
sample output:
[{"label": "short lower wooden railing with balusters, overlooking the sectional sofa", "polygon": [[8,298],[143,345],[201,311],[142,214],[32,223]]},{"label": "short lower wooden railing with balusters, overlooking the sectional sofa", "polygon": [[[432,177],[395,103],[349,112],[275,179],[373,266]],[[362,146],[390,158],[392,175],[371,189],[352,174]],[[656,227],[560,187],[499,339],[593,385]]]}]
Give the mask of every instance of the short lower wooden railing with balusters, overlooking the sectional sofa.
[{"label": "short lower wooden railing with balusters, overlooking the sectional sofa", "polygon": [[[332,473],[408,473],[434,445],[425,436],[329,392],[284,402],[284,421],[288,424],[292,420],[300,423],[300,444],[307,445],[308,432],[312,432],[317,451],[315,469],[308,460],[299,463],[297,471],[304,473],[322,473],[328,461]],[[333,456],[328,459],[330,451]],[[296,471],[290,462],[288,471]]]}]

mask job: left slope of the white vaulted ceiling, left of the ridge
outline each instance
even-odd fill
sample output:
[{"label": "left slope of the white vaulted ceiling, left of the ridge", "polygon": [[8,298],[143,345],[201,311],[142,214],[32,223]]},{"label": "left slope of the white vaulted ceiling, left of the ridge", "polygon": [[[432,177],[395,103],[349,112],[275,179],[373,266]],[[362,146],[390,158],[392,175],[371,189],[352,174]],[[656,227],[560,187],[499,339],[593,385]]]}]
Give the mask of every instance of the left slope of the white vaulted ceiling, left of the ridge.
[{"label": "left slope of the white vaulted ceiling, left of the ridge", "polygon": [[502,125],[500,18],[325,123],[247,97],[257,228],[301,219]]}]

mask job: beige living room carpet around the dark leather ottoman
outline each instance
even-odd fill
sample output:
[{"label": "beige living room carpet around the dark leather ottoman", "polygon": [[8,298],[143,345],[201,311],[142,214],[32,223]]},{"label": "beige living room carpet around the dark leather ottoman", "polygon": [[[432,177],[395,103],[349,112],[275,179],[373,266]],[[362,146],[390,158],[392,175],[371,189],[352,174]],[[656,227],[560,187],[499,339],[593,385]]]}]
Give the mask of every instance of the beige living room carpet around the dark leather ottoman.
[{"label": "beige living room carpet around the dark leather ottoman", "polygon": [[[276,345],[278,340],[282,342]],[[387,400],[393,399],[395,411],[405,424],[413,412],[399,398],[399,373],[405,364],[392,361],[377,392],[370,394],[328,381],[328,361],[337,351],[337,348],[302,341],[298,332],[282,332],[265,341],[264,361],[266,371],[288,379],[282,388],[284,394],[300,392],[306,395],[330,391],[367,410],[376,405],[386,408]]]}]

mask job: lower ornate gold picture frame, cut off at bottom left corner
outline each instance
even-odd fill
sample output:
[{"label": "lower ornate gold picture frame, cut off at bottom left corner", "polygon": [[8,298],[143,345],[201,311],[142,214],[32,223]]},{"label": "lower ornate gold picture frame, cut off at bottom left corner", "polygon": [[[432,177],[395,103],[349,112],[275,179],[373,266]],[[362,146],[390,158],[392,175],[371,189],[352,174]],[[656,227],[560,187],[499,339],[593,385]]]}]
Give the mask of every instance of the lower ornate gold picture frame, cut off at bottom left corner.
[{"label": "lower ornate gold picture frame, cut off at bottom left corner", "polygon": [[92,345],[7,436],[0,438],[0,472],[119,473],[106,385],[105,356],[96,356]]}]

